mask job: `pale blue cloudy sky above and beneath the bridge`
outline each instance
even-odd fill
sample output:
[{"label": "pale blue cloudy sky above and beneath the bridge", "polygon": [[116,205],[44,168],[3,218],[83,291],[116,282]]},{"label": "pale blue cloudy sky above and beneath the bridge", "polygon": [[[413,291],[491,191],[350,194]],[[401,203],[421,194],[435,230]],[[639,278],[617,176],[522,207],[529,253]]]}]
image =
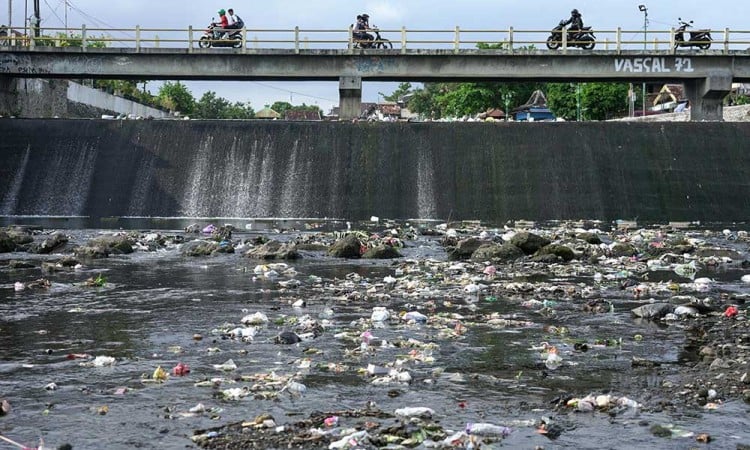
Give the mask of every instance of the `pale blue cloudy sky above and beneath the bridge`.
[{"label": "pale blue cloudy sky above and beneath the bridge", "polygon": [[[699,28],[750,30],[748,15],[742,13],[746,0],[283,0],[251,2],[247,0],[40,0],[42,27],[63,28],[179,28],[203,29],[220,8],[234,8],[248,29],[345,30],[358,14],[368,13],[370,23],[382,30],[402,27],[416,30],[453,30],[455,27],[474,30],[549,30],[572,8],[583,14],[586,25],[595,29],[643,30],[644,13],[638,5],[648,8],[649,30],[669,30],[677,26],[677,18],[692,19]],[[22,27],[24,13],[33,14],[33,0],[0,0],[0,23],[7,24],[8,8],[12,24]],[[112,32],[112,37],[133,33]],[[396,33],[386,34],[397,40]],[[420,36],[422,38],[422,36]],[[624,40],[642,39],[634,33],[623,34]],[[716,37],[715,37],[716,39]],[[750,40],[750,34],[745,38]],[[263,44],[272,47],[272,44]],[[217,50],[221,51],[221,50]],[[198,99],[213,91],[230,102],[249,103],[260,110],[276,101],[293,105],[317,105],[324,112],[338,105],[336,82],[231,82],[189,81],[188,89]],[[398,83],[364,82],[362,100],[377,102],[380,93],[392,93]],[[147,86],[155,94],[159,82]]]}]

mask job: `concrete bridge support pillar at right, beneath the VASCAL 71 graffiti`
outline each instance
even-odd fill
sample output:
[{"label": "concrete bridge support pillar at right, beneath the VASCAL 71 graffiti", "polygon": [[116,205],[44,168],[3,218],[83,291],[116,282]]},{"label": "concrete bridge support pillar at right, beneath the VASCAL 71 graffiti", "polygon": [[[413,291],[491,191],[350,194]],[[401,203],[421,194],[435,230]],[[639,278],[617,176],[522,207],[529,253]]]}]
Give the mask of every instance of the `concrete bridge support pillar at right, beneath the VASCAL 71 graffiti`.
[{"label": "concrete bridge support pillar at right, beneath the VASCAL 71 graffiti", "polygon": [[732,74],[717,73],[707,78],[685,81],[690,100],[690,120],[723,121],[724,97],[732,91]]}]

